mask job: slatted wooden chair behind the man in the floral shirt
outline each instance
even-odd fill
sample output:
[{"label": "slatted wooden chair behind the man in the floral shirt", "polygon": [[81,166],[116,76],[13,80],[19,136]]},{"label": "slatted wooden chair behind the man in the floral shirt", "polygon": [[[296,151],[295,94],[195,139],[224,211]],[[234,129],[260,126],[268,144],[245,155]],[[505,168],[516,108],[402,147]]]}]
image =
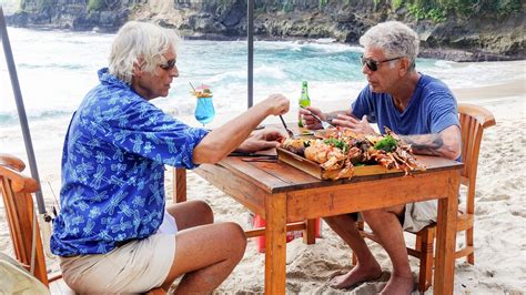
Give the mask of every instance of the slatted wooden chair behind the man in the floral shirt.
[{"label": "slatted wooden chair behind the man in the floral shirt", "polygon": [[[0,154],[0,194],[3,197],[11,241],[17,261],[51,293],[72,294],[62,275],[48,278],[42,238],[34,212],[32,193],[40,190],[34,179],[22,175],[26,164],[12,155]],[[148,294],[165,294],[154,288]]]}]

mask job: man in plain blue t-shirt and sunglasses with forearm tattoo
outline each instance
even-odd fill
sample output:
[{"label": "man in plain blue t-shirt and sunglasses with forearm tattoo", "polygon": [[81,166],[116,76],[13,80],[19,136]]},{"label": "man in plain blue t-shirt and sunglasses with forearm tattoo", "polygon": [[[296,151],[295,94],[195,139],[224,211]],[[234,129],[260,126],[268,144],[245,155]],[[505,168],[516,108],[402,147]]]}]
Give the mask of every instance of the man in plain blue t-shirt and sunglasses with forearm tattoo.
[{"label": "man in plain blue t-shirt and sunglasses with forearm tattoo", "polygon": [[[418,42],[418,35],[401,22],[374,26],[360,39],[364,47],[362,71],[368,85],[351,110],[333,113],[322,113],[315,108],[308,110],[335,125],[365,134],[376,133],[370,122],[377,123],[381,133],[385,132],[385,126],[390,128],[409,143],[415,153],[458,159],[461,130],[456,100],[442,81],[415,70]],[[321,128],[306,111],[300,112],[308,129]],[[417,232],[436,221],[436,200],[361,213],[393,263],[393,273],[382,293],[409,294],[414,282],[403,231]],[[360,236],[353,215],[332,216],[325,221],[357,257],[353,269],[334,277],[330,284],[347,288],[378,278],[381,266]]]}]

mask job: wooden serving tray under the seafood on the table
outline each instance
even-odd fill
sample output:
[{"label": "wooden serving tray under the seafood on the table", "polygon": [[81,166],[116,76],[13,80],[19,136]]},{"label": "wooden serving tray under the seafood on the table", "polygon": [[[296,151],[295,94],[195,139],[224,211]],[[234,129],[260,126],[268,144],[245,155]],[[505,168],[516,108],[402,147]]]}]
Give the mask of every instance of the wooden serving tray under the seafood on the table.
[{"label": "wooden serving tray under the seafood on the table", "polygon": [[[306,157],[300,156],[295,153],[292,153],[283,148],[277,148],[277,160],[284,163],[287,163],[291,166],[294,166],[305,173],[313,175],[320,180],[334,180],[337,177],[341,170],[331,170],[326,171],[320,166],[318,163],[311,161]],[[388,170],[382,165],[366,165],[366,166],[355,166],[353,170],[347,171],[345,174],[341,175],[340,179],[350,179],[354,175],[365,176],[365,175],[376,175],[376,174],[386,174],[386,173],[396,173],[399,172],[397,169]]]}]

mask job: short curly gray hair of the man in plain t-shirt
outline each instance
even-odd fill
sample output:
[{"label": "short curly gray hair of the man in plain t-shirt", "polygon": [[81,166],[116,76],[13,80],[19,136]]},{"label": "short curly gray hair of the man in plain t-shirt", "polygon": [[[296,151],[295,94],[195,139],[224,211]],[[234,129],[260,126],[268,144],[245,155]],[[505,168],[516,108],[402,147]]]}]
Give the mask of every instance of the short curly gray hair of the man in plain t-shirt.
[{"label": "short curly gray hair of the man in plain t-shirt", "polygon": [[383,50],[386,59],[406,57],[409,59],[409,70],[415,68],[418,55],[418,34],[399,21],[381,22],[370,28],[361,38],[364,48]]}]

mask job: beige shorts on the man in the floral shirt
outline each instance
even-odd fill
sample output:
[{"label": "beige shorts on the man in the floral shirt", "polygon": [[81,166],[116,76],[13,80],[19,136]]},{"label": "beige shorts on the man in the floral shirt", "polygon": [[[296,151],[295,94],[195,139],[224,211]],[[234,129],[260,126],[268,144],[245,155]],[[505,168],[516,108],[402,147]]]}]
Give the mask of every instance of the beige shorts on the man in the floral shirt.
[{"label": "beige shorts on the man in the floral shirt", "polygon": [[174,255],[175,235],[154,234],[107,254],[60,257],[60,268],[78,293],[144,293],[162,285]]}]

